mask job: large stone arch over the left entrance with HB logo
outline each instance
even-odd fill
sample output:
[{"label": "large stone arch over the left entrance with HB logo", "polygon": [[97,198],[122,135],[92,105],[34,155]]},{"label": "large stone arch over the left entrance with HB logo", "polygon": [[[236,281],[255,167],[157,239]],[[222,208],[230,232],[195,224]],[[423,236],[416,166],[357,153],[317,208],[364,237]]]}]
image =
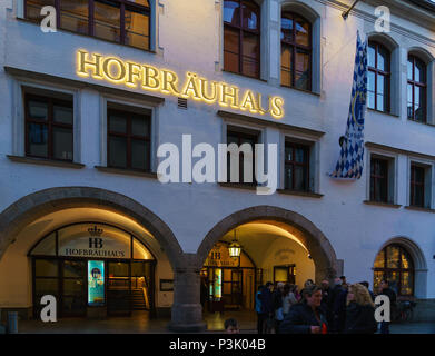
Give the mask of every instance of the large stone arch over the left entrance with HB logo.
[{"label": "large stone arch over the left entrance with HB logo", "polygon": [[22,197],[0,214],[0,259],[23,226],[53,211],[92,207],[125,215],[147,228],[168,256],[172,269],[184,255],[170,228],[152,211],[121,194],[93,187],[57,187]]}]

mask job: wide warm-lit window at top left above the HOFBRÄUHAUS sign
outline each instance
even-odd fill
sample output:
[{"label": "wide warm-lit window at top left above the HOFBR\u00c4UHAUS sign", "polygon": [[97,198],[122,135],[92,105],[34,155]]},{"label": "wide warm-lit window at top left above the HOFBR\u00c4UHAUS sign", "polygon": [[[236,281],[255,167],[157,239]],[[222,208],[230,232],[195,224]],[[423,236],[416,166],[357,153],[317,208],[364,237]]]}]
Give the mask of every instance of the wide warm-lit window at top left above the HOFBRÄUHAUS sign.
[{"label": "wide warm-lit window at top left above the HOFBR\u00c4UHAUS sign", "polygon": [[53,6],[58,27],[148,50],[148,0],[26,0],[26,18],[40,22],[41,7]]}]

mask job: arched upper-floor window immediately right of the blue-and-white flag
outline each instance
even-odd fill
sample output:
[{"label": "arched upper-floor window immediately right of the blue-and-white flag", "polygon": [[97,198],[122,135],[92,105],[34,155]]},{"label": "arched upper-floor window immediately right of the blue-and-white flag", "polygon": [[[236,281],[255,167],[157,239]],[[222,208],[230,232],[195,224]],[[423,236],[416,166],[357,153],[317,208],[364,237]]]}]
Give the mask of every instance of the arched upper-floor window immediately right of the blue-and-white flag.
[{"label": "arched upper-floor window immediately right of the blue-and-white flag", "polygon": [[389,51],[378,42],[368,41],[368,108],[390,111],[390,72]]}]

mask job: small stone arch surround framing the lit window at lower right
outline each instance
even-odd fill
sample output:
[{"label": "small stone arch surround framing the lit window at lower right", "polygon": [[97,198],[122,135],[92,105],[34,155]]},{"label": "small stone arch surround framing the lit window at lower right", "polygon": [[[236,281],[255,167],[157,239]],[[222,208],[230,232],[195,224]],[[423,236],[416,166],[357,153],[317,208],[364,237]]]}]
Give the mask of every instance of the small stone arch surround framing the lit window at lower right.
[{"label": "small stone arch surround framing the lit window at lower right", "polygon": [[427,263],[419,246],[409,237],[396,236],[384,243],[373,259],[375,265],[376,256],[388,245],[397,244],[404,247],[414,261],[414,294],[417,298],[426,298],[427,295]]}]

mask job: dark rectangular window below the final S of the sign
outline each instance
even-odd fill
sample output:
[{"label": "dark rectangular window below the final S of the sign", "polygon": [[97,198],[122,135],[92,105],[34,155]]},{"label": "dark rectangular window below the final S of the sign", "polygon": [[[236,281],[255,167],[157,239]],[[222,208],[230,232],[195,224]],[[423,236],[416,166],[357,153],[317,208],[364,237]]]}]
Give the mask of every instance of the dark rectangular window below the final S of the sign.
[{"label": "dark rectangular window below the final S of the sign", "polygon": [[309,191],[309,146],[286,142],[284,187]]}]

